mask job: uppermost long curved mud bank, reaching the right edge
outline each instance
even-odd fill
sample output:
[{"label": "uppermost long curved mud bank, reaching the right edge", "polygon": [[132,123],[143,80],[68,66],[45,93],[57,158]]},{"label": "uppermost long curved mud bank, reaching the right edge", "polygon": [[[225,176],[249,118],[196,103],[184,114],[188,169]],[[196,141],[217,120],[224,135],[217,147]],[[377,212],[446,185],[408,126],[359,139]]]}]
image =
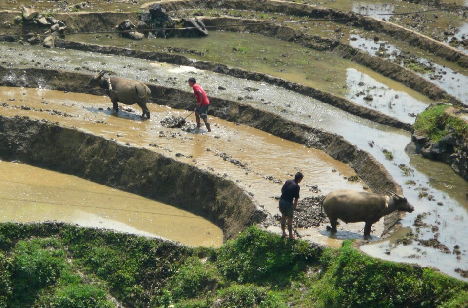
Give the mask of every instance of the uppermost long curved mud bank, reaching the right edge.
[{"label": "uppermost long curved mud bank, reaching the right edge", "polygon": [[[152,2],[157,3],[157,2]],[[141,8],[146,9],[152,3],[147,3]],[[376,31],[390,35],[396,40],[404,41],[411,46],[418,47],[448,61],[455,62],[462,67],[468,67],[468,55],[440,41],[436,41],[421,33],[409,30],[389,21],[382,21],[372,17],[362,17],[353,12],[345,13],[343,11],[331,8],[319,8],[309,4],[283,2],[276,0],[198,0],[198,1],[159,1],[163,3],[167,10],[177,11],[184,9],[235,9],[248,11],[261,11],[280,13],[286,15],[296,15],[317,19],[340,19],[336,22],[342,24],[351,23],[351,25],[364,30]]]}]

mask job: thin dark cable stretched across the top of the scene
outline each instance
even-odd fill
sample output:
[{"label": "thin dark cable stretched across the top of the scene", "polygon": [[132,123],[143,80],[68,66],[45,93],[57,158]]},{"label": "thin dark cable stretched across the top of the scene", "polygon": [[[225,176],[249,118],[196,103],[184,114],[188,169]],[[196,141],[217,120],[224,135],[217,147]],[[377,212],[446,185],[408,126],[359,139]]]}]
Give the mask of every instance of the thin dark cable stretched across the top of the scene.
[{"label": "thin dark cable stretched across the top of the scene", "polygon": [[[426,11],[413,11],[413,12],[404,12],[404,13],[376,13],[376,14],[365,14],[359,16],[352,16],[352,17],[340,17],[340,18],[322,18],[322,19],[306,19],[300,21],[261,21],[261,22],[250,22],[250,23],[237,23],[237,24],[225,24],[225,25],[216,25],[216,26],[205,26],[205,29],[210,28],[225,28],[225,27],[235,27],[235,26],[252,26],[252,25],[263,25],[263,24],[277,24],[277,23],[302,23],[302,22],[311,22],[311,21],[344,21],[344,20],[351,20],[351,19],[358,19],[362,17],[370,17],[374,15],[381,15],[381,16],[397,16],[397,15],[413,15],[413,14],[420,14],[420,13],[429,13],[429,12],[437,12],[437,11],[454,11],[454,10],[462,10],[466,9],[464,6],[456,6],[452,8],[439,8],[439,9],[431,9]],[[156,29],[144,29],[144,31],[163,31],[163,30],[194,30],[198,29],[198,27],[184,27],[184,28],[156,28]],[[128,33],[128,32],[136,32],[137,29],[134,30],[121,30],[121,31],[93,31],[93,32],[70,32],[65,34],[35,34],[34,36],[39,37],[56,37],[56,36],[63,36],[63,35],[82,35],[82,34],[105,34],[105,33]],[[28,34],[0,34],[0,36],[9,36],[9,37],[23,37],[29,36]]]}]

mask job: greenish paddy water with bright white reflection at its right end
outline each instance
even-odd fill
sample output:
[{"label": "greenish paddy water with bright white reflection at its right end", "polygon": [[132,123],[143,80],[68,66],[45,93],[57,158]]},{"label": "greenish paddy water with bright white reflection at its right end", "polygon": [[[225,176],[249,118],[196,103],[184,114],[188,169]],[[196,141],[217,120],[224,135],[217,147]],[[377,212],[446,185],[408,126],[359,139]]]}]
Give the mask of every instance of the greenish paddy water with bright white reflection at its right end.
[{"label": "greenish paddy water with bright white reflection at its right end", "polygon": [[[414,122],[409,114],[418,113],[428,103],[432,103],[420,93],[364,66],[329,53],[252,33],[211,31],[203,39],[145,39],[138,42],[89,35],[73,35],[68,36],[68,39],[144,50],[186,48],[204,54],[185,54],[190,58],[223,63],[299,82],[346,97],[407,123]],[[229,43],[219,44],[219,41]],[[372,100],[364,99],[368,94],[372,95]]]}]

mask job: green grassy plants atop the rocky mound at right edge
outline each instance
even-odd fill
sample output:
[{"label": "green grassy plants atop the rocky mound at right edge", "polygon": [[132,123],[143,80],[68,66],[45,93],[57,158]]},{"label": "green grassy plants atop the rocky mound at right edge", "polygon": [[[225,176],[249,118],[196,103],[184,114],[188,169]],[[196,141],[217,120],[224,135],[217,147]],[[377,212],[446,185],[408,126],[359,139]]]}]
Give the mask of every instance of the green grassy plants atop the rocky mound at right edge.
[{"label": "green grassy plants atop the rocky mound at right edge", "polygon": [[467,138],[468,124],[446,113],[448,107],[449,105],[443,104],[430,106],[418,115],[414,129],[427,134],[433,142],[440,141],[451,131],[462,138]]}]

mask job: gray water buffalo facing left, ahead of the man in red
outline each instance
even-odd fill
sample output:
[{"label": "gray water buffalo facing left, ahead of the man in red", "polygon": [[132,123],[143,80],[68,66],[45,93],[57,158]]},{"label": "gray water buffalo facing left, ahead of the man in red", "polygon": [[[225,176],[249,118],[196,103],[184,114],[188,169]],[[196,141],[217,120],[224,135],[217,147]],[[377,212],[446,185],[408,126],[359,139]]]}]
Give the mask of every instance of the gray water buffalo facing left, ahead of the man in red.
[{"label": "gray water buffalo facing left, ahead of the man in red", "polygon": [[143,110],[141,116],[146,115],[148,119],[150,118],[150,111],[146,107],[146,102],[151,97],[151,91],[146,84],[128,79],[104,78],[104,74],[105,72],[101,71],[98,75],[93,76],[86,84],[86,88],[100,87],[105,89],[116,112],[118,112],[117,102],[126,105],[137,103]]}]

